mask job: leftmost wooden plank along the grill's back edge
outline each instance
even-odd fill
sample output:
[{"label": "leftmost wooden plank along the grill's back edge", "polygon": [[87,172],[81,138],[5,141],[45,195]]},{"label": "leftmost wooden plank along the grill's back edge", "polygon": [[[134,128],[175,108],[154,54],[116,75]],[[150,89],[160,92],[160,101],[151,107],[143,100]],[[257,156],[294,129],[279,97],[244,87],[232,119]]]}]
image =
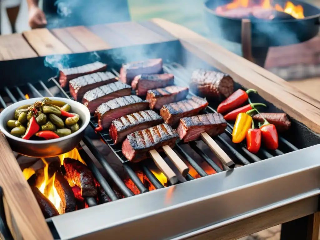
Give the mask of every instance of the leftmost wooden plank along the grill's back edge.
[{"label": "leftmost wooden plank along the grill's back edge", "polygon": [[22,34],[0,36],[0,60],[13,60],[37,57]]}]

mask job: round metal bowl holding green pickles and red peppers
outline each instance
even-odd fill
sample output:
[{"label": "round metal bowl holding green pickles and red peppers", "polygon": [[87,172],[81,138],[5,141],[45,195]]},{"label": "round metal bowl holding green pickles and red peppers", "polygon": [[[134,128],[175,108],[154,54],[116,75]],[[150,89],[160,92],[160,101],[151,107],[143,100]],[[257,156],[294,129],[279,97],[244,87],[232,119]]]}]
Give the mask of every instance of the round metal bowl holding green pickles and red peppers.
[{"label": "round metal bowl holding green pickles and red peppers", "polygon": [[84,136],[84,130],[90,122],[90,112],[86,106],[74,100],[66,98],[50,98],[52,100],[60,100],[71,106],[71,111],[80,116],[80,129],[68,136],[52,139],[52,140],[24,140],[10,134],[6,125],[7,121],[14,119],[14,111],[16,108],[33,104],[35,101],[41,101],[43,98],[32,98],[16,102],[5,108],[0,114],[0,130],[6,136],[13,151],[22,155],[31,157],[51,157],[67,153],[75,148]]}]

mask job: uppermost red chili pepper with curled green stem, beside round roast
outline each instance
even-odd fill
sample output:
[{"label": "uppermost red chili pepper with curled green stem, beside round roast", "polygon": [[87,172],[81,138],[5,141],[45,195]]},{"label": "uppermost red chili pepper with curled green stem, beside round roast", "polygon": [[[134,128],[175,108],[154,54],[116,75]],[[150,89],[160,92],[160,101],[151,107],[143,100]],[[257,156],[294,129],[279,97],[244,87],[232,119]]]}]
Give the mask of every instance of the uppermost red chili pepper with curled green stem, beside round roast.
[{"label": "uppermost red chili pepper with curled green stem, beside round roast", "polygon": [[219,104],[217,112],[225,113],[241,106],[246,100],[248,100],[248,93],[250,92],[257,93],[257,91],[254,89],[248,89],[247,91],[238,89],[236,92],[232,93],[227,99],[223,100]]}]

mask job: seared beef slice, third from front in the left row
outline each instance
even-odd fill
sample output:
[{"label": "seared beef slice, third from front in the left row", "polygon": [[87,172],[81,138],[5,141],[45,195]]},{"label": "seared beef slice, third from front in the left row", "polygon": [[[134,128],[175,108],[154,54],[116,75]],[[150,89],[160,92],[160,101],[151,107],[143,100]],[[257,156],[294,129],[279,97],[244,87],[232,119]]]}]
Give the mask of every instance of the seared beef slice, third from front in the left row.
[{"label": "seared beef slice, third from front in the left row", "polygon": [[108,102],[102,103],[94,116],[98,117],[98,127],[96,131],[99,132],[103,128],[108,128],[113,120],[134,112],[146,110],[148,102],[142,100],[136,95],[124,96],[115,98]]}]

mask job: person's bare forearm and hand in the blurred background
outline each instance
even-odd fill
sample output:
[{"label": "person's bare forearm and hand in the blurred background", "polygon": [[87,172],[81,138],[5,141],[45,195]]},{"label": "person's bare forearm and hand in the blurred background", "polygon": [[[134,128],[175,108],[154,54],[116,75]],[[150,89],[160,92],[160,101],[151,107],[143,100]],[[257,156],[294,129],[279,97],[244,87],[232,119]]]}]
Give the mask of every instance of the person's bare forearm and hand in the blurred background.
[{"label": "person's bare forearm and hand in the blurred background", "polygon": [[[45,0],[44,0],[45,1]],[[29,26],[43,28],[47,24],[44,12],[39,8],[39,0],[27,0],[29,9]]]}]

